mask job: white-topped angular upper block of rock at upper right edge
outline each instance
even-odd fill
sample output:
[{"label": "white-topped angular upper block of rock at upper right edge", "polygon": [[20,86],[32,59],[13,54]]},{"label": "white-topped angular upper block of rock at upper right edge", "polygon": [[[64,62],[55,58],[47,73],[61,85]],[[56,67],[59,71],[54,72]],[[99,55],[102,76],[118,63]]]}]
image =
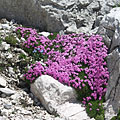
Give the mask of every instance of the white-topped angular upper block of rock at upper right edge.
[{"label": "white-topped angular upper block of rock at upper right edge", "polygon": [[103,36],[103,40],[110,52],[120,45],[120,8],[113,8],[109,14],[105,15],[100,23],[98,34]]}]

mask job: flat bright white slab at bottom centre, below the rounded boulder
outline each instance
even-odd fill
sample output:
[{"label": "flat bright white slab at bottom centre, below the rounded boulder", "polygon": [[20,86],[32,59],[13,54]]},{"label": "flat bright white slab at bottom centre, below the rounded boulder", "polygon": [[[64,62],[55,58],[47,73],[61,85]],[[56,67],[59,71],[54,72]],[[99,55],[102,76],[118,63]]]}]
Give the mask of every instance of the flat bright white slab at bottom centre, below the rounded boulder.
[{"label": "flat bright white slab at bottom centre, below the rounded boulder", "polygon": [[64,119],[68,120],[89,120],[85,108],[81,106],[80,103],[69,103],[59,105],[57,108],[57,113]]}]

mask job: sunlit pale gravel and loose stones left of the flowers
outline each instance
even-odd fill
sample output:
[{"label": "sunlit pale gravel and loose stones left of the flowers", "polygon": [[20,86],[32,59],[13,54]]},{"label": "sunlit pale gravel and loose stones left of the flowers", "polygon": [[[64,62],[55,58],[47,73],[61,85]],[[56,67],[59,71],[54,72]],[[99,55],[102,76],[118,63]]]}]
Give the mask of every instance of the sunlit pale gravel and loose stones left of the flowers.
[{"label": "sunlit pale gravel and loose stones left of the flowers", "polygon": [[[17,26],[14,20],[0,20],[0,120],[58,120],[45,110],[22,79],[22,69],[29,67],[31,58],[19,59],[20,54],[27,53],[14,32]],[[16,38],[16,46],[5,41],[8,35]]]}]

